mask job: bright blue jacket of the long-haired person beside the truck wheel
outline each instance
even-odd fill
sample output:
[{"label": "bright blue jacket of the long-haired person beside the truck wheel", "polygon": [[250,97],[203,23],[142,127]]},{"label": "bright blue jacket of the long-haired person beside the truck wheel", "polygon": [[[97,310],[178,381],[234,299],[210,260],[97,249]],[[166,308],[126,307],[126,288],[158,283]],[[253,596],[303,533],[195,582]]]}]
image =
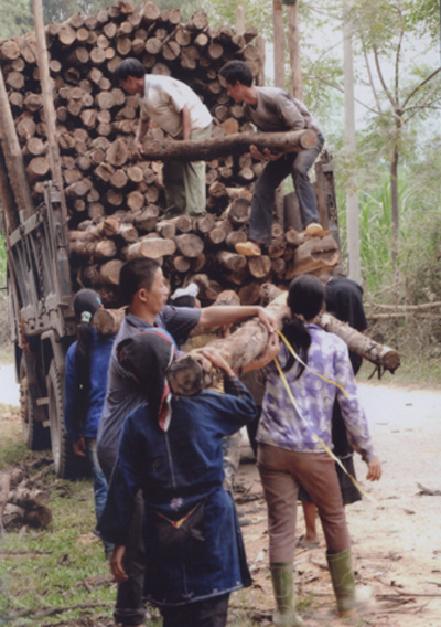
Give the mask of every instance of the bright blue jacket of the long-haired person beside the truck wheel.
[{"label": "bright blue jacket of the long-haired person beside the truck wheel", "polygon": [[107,371],[115,336],[98,336],[94,329],[92,331],[94,343],[90,351],[90,390],[86,414],[78,402],[78,381],[75,373],[75,349],[78,342],[69,347],[66,355],[64,423],[73,442],[80,435],[96,437],[106,396]]}]

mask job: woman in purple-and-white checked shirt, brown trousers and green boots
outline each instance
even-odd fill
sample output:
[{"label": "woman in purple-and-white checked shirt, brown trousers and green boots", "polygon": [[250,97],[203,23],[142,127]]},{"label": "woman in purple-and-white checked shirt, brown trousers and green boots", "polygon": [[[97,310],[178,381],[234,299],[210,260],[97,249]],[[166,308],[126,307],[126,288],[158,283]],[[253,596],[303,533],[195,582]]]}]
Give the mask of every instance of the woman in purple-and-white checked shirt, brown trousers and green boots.
[{"label": "woman in purple-and-white checked shirt, brown trousers and green boots", "polygon": [[[314,325],[324,307],[324,286],[311,275],[295,278],[290,285],[288,306],[292,321],[284,326],[283,334],[298,357],[295,359],[283,346],[278,357],[282,370],[278,370],[277,363],[265,368],[266,394],[257,433],[277,603],[273,624],[279,627],[302,625],[295,614],[292,566],[299,483],[304,486],[319,509],[340,616],[352,615],[372,596],[370,588],[355,589],[351,538],[334,460],[316,437],[332,447],[335,396],[349,442],[367,464],[366,478],[375,481],[381,476],[381,466],[375,456],[357,397],[347,347],[340,338]],[[261,366],[258,361],[250,365]]]}]

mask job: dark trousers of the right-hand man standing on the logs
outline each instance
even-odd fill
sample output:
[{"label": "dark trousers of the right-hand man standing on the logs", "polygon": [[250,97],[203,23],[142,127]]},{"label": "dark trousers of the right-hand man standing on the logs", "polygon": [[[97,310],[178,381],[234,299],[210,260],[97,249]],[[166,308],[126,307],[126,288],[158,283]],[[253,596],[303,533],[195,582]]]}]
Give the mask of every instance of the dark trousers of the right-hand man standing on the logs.
[{"label": "dark trousers of the right-hand man standing on the logs", "polygon": [[315,194],[308,171],[320,155],[323,144],[324,138],[319,134],[315,148],[300,152],[286,152],[276,161],[268,161],[252,194],[249,221],[250,240],[259,244],[271,244],[275,192],[288,174],[292,176],[294,182],[303,229],[311,222],[319,222]]}]

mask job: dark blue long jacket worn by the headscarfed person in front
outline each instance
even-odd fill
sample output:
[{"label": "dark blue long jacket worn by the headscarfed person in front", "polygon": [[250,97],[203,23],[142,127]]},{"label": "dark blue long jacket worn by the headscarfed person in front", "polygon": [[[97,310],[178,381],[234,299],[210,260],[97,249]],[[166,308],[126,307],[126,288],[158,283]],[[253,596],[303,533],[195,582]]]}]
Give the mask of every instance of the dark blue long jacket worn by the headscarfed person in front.
[{"label": "dark blue long jacket worn by the headscarfed person in front", "polygon": [[[250,584],[233,498],[223,488],[222,438],[256,416],[246,387],[173,396],[168,432],[144,404],[125,421],[98,529],[125,544],[135,495],[144,498],[146,597],[180,605]],[[234,395],[235,394],[235,395]]]}]

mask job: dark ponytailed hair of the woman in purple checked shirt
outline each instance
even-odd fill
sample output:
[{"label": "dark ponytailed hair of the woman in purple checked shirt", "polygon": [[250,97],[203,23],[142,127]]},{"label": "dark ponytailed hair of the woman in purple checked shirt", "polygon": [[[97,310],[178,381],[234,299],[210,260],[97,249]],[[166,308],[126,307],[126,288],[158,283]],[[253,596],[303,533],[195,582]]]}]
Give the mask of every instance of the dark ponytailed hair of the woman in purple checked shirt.
[{"label": "dark ponytailed hair of the woman in purple checked shirt", "polygon": [[[304,321],[309,322],[320,314],[324,305],[324,295],[323,284],[312,275],[294,278],[289,287],[288,306],[292,320],[284,325],[283,334],[304,363],[308,362],[308,351],[311,346],[311,336]],[[283,370],[291,370],[293,365],[294,357],[290,353]],[[295,362],[295,379],[299,379],[304,365]]]}]

